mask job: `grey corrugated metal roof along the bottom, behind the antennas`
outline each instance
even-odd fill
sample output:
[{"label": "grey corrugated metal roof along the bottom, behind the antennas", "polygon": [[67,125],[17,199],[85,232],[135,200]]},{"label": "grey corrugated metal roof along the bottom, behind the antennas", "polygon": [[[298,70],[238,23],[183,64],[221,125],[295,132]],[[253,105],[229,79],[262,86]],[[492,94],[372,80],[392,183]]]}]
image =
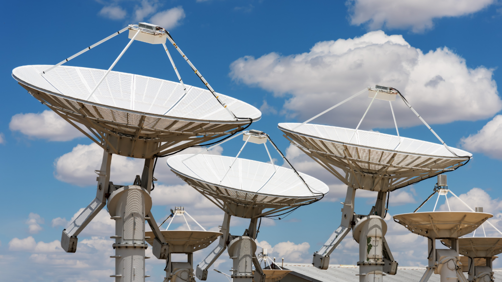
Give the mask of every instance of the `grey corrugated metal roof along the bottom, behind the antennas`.
[{"label": "grey corrugated metal roof along the bottom, behind the antennas", "polygon": [[[313,282],[347,281],[358,282],[359,267],[357,265],[330,264],[327,270],[321,270],[307,263],[284,263],[284,269],[292,270],[289,275],[299,276]],[[502,281],[502,270],[493,269],[495,281]],[[385,282],[415,282],[425,273],[425,267],[398,267],[396,275],[386,275]],[[467,273],[464,273],[467,277]],[[287,277],[283,280],[287,280]],[[432,274],[430,282],[440,282],[439,274]]]}]

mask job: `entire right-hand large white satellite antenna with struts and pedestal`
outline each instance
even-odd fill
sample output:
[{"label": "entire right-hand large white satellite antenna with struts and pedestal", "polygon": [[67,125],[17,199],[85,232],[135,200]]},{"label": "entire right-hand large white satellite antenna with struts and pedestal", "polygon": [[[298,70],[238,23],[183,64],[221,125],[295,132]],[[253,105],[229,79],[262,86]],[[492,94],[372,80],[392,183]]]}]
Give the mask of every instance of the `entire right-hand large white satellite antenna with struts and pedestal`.
[{"label": "entire right-hand large white satellite antenna with struts and pedestal", "polygon": [[[355,129],[308,123],[366,91],[368,91],[371,102]],[[396,100],[398,95],[427,128],[434,133],[441,144],[399,135],[392,107],[392,101]],[[396,136],[359,129],[374,99],[389,101],[396,126]],[[398,90],[380,85],[376,85],[374,88],[367,87],[303,123],[279,123],[278,127],[285,133],[284,136],[291,144],[301,149],[347,185],[345,202],[342,203],[340,226],[321,249],[314,253],[313,265],[320,269],[328,268],[329,255],[351,229],[354,231],[356,222],[366,217],[366,215],[356,215],[354,213],[356,189],[378,192],[376,203],[369,213],[370,216],[375,217],[372,217],[372,219],[368,217],[360,222],[360,224],[364,224],[364,226],[360,226],[362,232],[370,232],[373,227],[376,228],[373,231],[383,232],[383,230],[387,229],[383,218],[387,213],[386,197],[389,197],[388,193],[424,179],[453,171],[465,165],[472,156],[465,151],[448,147]],[[380,219],[376,217],[380,217]],[[368,224],[373,227],[370,228]],[[360,240],[353,233],[354,239],[360,242],[360,261],[358,265],[361,281],[372,278],[382,281],[383,272],[388,274],[396,273],[397,262],[394,261],[385,234],[379,234],[381,236],[374,238],[375,244],[373,245],[378,246],[375,247],[375,251],[382,253],[383,257],[376,256],[367,261],[364,254],[366,240]],[[372,237],[368,234],[362,234],[361,236]]]}]

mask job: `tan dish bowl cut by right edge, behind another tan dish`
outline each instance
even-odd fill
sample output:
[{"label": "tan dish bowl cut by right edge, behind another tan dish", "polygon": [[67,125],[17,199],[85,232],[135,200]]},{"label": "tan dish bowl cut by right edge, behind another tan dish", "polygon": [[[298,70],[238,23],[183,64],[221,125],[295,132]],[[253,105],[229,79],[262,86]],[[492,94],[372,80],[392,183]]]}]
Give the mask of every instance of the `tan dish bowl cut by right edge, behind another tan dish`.
[{"label": "tan dish bowl cut by right edge, behind another tan dish", "polygon": [[[441,240],[447,247],[451,240]],[[502,253],[502,237],[458,238],[458,253],[469,257],[490,257]]]}]

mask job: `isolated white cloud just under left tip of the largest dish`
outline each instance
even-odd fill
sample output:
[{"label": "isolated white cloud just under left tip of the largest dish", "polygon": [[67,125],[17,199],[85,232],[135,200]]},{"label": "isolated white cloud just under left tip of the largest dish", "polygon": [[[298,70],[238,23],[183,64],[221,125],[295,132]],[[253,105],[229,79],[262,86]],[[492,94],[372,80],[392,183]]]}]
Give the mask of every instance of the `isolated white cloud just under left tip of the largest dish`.
[{"label": "isolated white cloud just under left tip of the largest dish", "polygon": [[57,113],[44,110],[42,113],[15,114],[9,128],[20,131],[31,138],[48,139],[49,141],[69,141],[84,136]]}]

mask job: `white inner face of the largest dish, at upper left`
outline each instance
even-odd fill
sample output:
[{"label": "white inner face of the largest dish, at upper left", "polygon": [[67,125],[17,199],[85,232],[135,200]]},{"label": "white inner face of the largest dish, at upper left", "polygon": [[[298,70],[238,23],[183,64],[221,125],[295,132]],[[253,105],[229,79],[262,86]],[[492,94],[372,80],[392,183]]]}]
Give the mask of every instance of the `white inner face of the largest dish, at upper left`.
[{"label": "white inner face of the largest dish, at upper left", "polygon": [[[50,66],[22,66],[13,70],[13,76],[21,83],[46,90],[82,102],[91,102],[107,108],[173,119],[198,121],[234,121],[209,90],[186,85],[188,94],[183,96],[180,83],[153,77],[111,71],[86,100],[105,70],[71,66],[59,66],[43,76],[42,70]],[[236,116],[258,119],[261,112],[242,101],[219,95]],[[177,103],[178,102],[178,103]],[[177,103],[177,104],[176,104]],[[167,114],[166,114],[167,112]]]}]

